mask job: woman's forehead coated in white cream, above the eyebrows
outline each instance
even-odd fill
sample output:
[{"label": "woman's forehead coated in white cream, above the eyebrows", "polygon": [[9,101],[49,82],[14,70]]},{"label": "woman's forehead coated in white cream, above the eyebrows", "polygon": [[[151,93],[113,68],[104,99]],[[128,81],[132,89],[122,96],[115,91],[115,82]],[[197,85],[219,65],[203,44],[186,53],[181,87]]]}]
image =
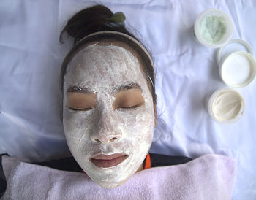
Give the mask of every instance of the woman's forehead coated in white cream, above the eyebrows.
[{"label": "woman's forehead coated in white cream, above the eyebrows", "polygon": [[67,66],[65,85],[94,88],[129,82],[145,85],[135,50],[116,42],[94,43],[80,50]]}]

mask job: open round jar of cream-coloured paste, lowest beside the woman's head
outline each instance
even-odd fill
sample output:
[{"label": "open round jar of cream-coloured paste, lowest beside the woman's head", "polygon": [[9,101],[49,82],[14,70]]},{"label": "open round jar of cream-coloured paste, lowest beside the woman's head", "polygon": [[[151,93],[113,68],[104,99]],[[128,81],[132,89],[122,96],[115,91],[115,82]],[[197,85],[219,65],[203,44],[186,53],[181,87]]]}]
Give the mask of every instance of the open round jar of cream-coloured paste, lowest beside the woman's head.
[{"label": "open round jar of cream-coloured paste, lowest beside the woman's head", "polygon": [[208,112],[218,123],[235,123],[244,114],[244,99],[230,88],[221,88],[211,94]]}]

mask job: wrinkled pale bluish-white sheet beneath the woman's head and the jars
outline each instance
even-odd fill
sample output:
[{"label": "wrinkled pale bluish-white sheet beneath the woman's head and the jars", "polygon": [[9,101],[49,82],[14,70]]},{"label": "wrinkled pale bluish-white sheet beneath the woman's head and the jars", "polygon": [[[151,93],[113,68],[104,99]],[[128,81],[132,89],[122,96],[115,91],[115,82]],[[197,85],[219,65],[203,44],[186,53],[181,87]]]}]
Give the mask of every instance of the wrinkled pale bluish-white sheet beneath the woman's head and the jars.
[{"label": "wrinkled pale bluish-white sheet beneath the woman's head and the jars", "polygon": [[[221,125],[206,98],[222,83],[216,50],[192,37],[197,15],[219,8],[233,20],[233,39],[256,47],[256,1],[97,1],[124,12],[132,33],[154,56],[159,120],[151,153],[236,158],[233,199],[256,199],[256,81],[237,89],[246,111]],[[59,44],[64,23],[92,3],[82,0],[8,1],[0,4],[0,153],[31,161],[69,155],[59,118],[59,70],[69,45]],[[138,34],[140,32],[140,34]]]}]

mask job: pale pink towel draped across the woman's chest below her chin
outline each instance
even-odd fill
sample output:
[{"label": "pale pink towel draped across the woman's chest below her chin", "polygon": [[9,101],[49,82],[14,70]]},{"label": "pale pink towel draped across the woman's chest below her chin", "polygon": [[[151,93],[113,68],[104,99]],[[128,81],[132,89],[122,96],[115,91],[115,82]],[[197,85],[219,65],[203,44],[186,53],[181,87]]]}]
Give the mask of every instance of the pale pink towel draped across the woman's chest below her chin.
[{"label": "pale pink towel draped across the woman's chest below her chin", "polygon": [[102,188],[86,174],[3,157],[4,199],[231,199],[236,162],[208,154],[187,164],[135,173],[118,188]]}]

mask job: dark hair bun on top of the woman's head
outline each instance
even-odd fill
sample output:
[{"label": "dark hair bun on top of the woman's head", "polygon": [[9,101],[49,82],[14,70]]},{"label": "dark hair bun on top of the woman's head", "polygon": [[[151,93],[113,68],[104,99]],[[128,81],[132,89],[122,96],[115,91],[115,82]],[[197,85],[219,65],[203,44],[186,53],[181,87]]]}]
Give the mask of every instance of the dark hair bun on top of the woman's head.
[{"label": "dark hair bun on top of the woman's head", "polygon": [[83,37],[97,31],[124,32],[125,15],[123,12],[113,12],[103,5],[95,5],[81,10],[70,18],[61,31],[60,41],[63,42],[63,34],[67,32],[77,43]]}]

